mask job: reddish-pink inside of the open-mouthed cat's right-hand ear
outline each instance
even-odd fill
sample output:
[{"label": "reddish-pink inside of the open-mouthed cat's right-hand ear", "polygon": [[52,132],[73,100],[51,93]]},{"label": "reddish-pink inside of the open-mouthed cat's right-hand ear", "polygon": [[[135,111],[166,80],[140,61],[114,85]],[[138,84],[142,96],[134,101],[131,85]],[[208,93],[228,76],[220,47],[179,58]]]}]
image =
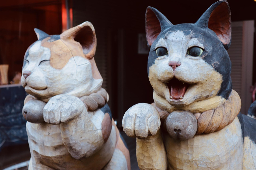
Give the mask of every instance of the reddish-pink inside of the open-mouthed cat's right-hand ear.
[{"label": "reddish-pink inside of the open-mouthed cat's right-hand ear", "polygon": [[231,40],[231,15],[228,4],[222,2],[216,7],[208,22],[208,28],[216,33],[223,44],[228,44]]}]

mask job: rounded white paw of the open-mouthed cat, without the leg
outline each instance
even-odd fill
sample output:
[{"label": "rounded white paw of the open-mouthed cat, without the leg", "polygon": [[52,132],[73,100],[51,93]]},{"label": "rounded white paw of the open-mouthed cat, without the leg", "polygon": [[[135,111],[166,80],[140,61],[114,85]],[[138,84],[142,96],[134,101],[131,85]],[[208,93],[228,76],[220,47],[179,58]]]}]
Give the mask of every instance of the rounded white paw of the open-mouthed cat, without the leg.
[{"label": "rounded white paw of the open-mouthed cat, without the leg", "polygon": [[132,106],[123,117],[124,132],[130,137],[146,138],[155,135],[160,128],[160,117],[150,104],[139,103]]}]

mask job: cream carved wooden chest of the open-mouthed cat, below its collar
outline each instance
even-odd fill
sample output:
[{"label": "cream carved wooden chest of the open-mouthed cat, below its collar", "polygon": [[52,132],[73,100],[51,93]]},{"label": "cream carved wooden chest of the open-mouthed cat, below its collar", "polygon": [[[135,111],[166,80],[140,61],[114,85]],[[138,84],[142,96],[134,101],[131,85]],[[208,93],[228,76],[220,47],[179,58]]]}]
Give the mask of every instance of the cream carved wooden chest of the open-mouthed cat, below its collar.
[{"label": "cream carved wooden chest of the open-mouthed cat, below its collar", "polygon": [[242,169],[243,138],[238,118],[218,132],[189,140],[178,141],[166,135],[164,143],[169,169]]}]

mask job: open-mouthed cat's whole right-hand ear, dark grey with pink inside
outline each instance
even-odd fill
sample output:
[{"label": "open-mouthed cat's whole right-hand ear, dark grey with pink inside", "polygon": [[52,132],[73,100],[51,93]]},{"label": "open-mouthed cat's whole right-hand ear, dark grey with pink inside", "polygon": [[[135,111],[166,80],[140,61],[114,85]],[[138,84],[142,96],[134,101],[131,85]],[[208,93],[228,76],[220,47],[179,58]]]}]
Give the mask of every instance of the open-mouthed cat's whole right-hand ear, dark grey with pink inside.
[{"label": "open-mouthed cat's whole right-hand ear, dark grey with pink inside", "polygon": [[231,45],[231,13],[226,0],[212,4],[195,23],[214,31],[226,50]]}]

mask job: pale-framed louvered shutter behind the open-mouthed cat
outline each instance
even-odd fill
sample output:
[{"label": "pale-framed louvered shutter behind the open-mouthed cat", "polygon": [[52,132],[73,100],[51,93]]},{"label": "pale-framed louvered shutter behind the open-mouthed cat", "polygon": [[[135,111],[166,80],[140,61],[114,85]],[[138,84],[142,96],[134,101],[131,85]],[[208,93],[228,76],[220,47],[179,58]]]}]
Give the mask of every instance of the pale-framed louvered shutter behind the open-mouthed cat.
[{"label": "pale-framed louvered shutter behind the open-mouthed cat", "polygon": [[232,62],[233,89],[242,102],[241,113],[247,114],[251,105],[254,20],[232,22],[232,42],[228,50]]}]

